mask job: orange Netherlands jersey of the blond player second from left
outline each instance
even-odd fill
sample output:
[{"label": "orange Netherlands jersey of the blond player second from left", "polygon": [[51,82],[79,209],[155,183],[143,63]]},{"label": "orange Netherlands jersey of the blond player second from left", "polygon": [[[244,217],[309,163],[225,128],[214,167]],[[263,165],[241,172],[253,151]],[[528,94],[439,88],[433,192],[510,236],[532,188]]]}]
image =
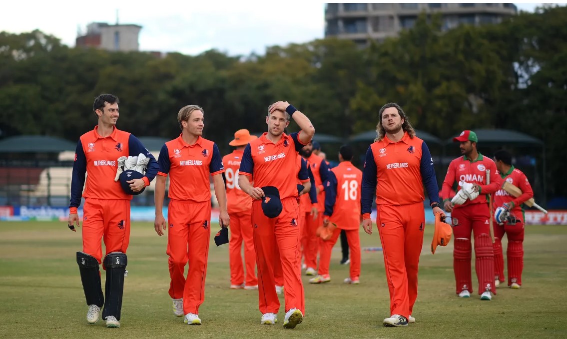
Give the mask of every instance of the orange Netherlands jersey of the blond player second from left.
[{"label": "orange Netherlands jersey of the blond player second from left", "polygon": [[158,163],[158,175],[170,176],[168,197],[174,200],[210,201],[209,174],[225,172],[217,144],[198,137],[189,145],[181,134],[163,145]]}]

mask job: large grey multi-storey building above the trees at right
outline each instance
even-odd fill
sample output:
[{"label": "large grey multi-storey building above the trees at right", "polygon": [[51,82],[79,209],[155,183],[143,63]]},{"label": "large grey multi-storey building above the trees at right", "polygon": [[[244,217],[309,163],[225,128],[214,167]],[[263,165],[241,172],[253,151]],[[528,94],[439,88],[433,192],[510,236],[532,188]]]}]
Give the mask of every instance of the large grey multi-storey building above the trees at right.
[{"label": "large grey multi-storey building above the trees at right", "polygon": [[500,23],[515,15],[513,3],[327,3],[325,37],[353,40],[366,46],[397,36],[402,29],[412,28],[422,11],[440,12],[443,30],[459,24]]}]

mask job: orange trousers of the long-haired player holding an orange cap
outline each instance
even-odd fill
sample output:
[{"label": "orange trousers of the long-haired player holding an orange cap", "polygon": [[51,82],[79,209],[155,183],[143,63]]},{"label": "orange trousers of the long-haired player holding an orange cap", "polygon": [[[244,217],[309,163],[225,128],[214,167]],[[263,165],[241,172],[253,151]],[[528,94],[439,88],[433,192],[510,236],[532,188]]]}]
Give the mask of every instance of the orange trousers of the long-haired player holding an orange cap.
[{"label": "orange trousers of the long-haired player holding an orange cap", "polygon": [[390,290],[390,315],[408,318],[417,299],[417,270],[425,229],[423,202],[376,206],[376,227]]}]

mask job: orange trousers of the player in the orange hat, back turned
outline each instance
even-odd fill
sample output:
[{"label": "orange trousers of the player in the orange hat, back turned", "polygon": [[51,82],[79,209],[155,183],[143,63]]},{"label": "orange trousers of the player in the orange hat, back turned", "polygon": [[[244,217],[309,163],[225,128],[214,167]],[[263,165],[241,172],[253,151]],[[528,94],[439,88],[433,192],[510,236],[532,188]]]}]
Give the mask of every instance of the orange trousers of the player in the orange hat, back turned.
[{"label": "orange trousers of the player in the orange hat, back turned", "polygon": [[252,232],[252,215],[250,211],[229,213],[230,217],[230,283],[242,285],[244,281],[244,266],[242,265],[242,243],[244,243],[244,263],[246,265],[246,286],[258,285],[256,278],[256,252]]}]

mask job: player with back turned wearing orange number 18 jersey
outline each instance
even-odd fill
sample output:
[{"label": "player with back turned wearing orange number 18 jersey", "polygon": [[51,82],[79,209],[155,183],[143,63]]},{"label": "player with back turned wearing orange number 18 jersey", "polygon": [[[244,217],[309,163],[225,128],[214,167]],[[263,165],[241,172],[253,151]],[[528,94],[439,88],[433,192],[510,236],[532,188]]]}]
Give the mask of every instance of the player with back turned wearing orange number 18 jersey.
[{"label": "player with back turned wearing orange number 18 jersey", "polygon": [[319,274],[309,280],[310,283],[322,283],[331,281],[329,265],[331,264],[331,251],[337,243],[342,231],[346,233],[346,239],[352,249],[352,260],[350,262],[350,276],[344,280],[345,283],[360,283],[360,238],[358,227],[360,225],[360,191],[362,172],[353,166],[353,149],[349,145],[341,146],[338,151],[337,167],[332,168],[325,181],[325,212],[323,224],[328,226],[329,222],[337,225],[331,239],[321,241],[321,257],[319,262]]}]

